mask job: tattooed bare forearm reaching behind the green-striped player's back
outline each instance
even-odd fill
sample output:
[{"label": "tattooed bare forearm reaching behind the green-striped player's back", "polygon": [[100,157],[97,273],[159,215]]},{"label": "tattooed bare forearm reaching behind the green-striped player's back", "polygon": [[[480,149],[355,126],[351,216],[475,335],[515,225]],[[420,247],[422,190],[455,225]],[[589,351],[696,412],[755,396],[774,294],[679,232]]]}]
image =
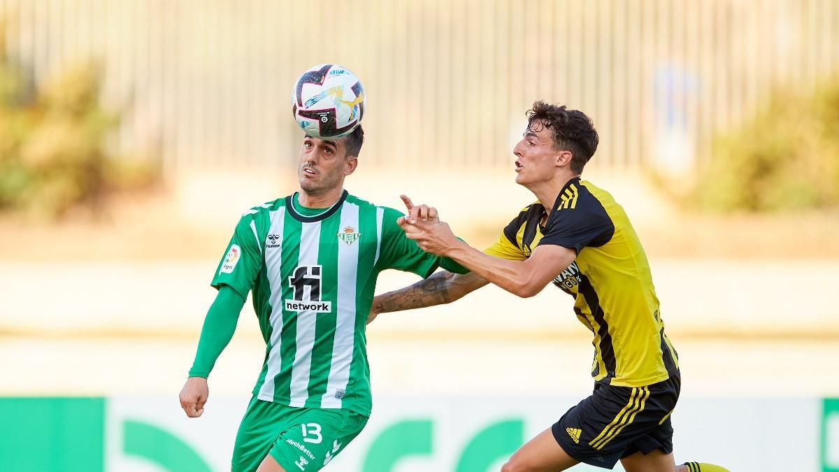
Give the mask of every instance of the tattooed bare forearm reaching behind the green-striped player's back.
[{"label": "tattooed bare forearm reaching behind the green-striped player's back", "polygon": [[435,272],[412,286],[388,291],[373,298],[373,307],[370,309],[367,323],[372,322],[379,313],[400,312],[451,303],[488,283],[480,275],[473,273],[455,274],[448,270]]}]

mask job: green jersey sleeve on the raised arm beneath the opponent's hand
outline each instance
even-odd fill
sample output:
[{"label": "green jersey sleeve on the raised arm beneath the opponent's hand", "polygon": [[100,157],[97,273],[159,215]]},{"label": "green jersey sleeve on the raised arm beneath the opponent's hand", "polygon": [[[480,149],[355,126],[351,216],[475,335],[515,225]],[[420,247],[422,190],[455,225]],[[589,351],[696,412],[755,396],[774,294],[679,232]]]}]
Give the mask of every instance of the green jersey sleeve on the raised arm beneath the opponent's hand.
[{"label": "green jersey sleeve on the raised arm beneath the opponent's hand", "polygon": [[469,271],[454,260],[440,258],[420,249],[416,241],[408,239],[396,223],[401,216],[403,214],[393,208],[384,208],[381,252],[378,260],[380,268],[413,272],[423,278],[434,273],[437,267],[457,274]]}]

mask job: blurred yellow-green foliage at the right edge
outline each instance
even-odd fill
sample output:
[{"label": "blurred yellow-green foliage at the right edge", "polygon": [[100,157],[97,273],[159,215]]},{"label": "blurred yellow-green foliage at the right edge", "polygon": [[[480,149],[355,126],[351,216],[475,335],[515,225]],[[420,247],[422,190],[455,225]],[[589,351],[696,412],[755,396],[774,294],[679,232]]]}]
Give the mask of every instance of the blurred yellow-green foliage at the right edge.
[{"label": "blurred yellow-green foliage at the right edge", "polygon": [[839,207],[839,82],[769,106],[721,136],[694,202],[715,212]]}]

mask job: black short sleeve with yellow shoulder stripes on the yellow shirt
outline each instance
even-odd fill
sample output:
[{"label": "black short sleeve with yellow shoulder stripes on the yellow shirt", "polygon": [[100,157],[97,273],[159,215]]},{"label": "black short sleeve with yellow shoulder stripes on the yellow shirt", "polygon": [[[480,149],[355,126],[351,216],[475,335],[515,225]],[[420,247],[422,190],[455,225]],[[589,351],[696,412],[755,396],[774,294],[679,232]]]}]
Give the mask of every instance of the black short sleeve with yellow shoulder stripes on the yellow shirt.
[{"label": "black short sleeve with yellow shoulder stripes on the yellow shirt", "polygon": [[586,246],[599,247],[609,242],[615,233],[612,218],[596,198],[581,199],[576,208],[558,209],[550,215],[545,236],[539,245],[554,244],[576,250]]}]

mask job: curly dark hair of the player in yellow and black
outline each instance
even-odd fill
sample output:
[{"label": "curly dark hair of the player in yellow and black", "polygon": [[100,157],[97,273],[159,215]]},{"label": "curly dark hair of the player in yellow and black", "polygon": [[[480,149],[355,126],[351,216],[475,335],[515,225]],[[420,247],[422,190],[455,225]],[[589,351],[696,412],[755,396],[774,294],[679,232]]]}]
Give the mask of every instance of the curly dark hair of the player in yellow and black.
[{"label": "curly dark hair of the player in yellow and black", "polygon": [[542,101],[534,102],[533,108],[526,114],[528,131],[534,131],[534,126],[550,128],[554,132],[554,149],[570,151],[571,171],[581,174],[600,141],[591,118],[580,110],[569,110],[565,105],[550,105]]}]

